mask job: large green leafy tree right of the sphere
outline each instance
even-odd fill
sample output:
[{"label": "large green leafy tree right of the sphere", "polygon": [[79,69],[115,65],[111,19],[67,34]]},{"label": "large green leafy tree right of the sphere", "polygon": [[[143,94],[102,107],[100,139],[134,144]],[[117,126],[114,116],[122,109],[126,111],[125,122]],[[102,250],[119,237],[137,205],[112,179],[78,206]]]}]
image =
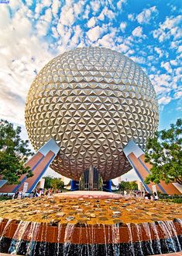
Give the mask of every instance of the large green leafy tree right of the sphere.
[{"label": "large green leafy tree right of the sphere", "polygon": [[182,184],[182,119],[170,124],[170,129],[156,132],[146,144],[146,162],[153,165],[146,183]]}]

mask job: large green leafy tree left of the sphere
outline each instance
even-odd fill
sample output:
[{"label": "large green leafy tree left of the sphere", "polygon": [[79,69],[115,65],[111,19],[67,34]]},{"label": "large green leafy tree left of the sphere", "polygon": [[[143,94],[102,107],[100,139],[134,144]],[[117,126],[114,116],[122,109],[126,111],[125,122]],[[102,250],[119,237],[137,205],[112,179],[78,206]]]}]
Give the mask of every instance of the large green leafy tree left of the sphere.
[{"label": "large green leafy tree left of the sphere", "polygon": [[0,175],[9,184],[19,184],[19,177],[26,174],[33,176],[29,167],[24,164],[31,156],[29,141],[20,138],[21,127],[14,128],[8,121],[0,121]]}]

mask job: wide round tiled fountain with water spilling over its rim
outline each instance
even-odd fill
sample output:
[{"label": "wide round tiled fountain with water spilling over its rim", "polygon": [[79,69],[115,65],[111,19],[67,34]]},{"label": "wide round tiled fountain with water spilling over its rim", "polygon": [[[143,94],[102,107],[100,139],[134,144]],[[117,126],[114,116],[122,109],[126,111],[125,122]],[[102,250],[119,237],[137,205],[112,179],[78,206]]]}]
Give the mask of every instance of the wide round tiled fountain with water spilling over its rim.
[{"label": "wide round tiled fountain with water spilling over its rim", "polygon": [[181,251],[177,204],[143,198],[25,198],[0,202],[0,252],[153,255]]}]

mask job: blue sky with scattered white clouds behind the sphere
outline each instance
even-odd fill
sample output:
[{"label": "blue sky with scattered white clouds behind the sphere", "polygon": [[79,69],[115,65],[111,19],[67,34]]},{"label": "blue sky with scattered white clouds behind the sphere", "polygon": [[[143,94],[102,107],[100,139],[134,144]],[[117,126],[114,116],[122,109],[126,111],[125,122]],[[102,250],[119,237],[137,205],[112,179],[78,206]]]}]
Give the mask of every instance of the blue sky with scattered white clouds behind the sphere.
[{"label": "blue sky with scattered white clouds behind the sphere", "polygon": [[181,0],[0,0],[0,118],[22,127],[37,72],[58,54],[100,46],[136,61],[160,107],[159,129],[182,117]]}]

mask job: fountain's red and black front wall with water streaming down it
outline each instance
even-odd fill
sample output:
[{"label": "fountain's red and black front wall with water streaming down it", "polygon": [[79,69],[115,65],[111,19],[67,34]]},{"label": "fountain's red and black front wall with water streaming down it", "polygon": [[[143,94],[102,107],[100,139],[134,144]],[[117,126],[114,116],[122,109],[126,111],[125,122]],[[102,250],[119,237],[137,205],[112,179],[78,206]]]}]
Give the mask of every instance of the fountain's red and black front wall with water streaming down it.
[{"label": "fountain's red and black front wall with water streaming down it", "polygon": [[[3,227],[0,252],[26,256],[141,256],[177,252],[182,246],[180,219],[126,225],[70,223],[57,226],[0,219],[0,225]],[[13,228],[15,232],[11,237],[9,230]],[[54,242],[47,240],[49,237],[54,237]]]}]

